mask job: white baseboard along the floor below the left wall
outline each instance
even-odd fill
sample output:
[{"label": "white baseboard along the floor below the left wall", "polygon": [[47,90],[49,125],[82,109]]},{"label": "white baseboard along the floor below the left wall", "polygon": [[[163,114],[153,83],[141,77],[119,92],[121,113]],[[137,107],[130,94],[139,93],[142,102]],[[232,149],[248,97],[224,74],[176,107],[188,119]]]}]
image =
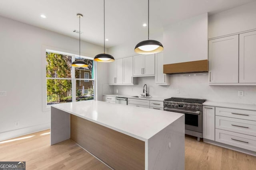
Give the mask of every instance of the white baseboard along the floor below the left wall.
[{"label": "white baseboard along the floor below the left wall", "polygon": [[12,139],[14,137],[19,137],[19,136],[23,136],[23,135],[28,135],[30,133],[35,133],[38,131],[50,129],[50,125],[51,125],[50,123],[44,123],[41,125],[34,125],[34,126],[30,126],[30,127],[15,129],[12,131],[2,132],[2,133],[0,133],[0,141],[5,141],[8,139]]}]

